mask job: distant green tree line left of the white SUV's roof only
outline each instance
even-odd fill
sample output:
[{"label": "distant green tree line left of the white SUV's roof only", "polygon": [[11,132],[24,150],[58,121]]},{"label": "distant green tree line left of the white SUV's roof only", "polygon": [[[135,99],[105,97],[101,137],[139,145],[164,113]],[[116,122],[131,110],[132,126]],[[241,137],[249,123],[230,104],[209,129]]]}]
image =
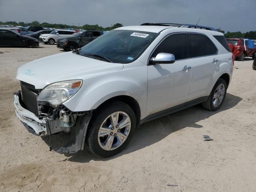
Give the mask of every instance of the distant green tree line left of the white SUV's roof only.
[{"label": "distant green tree line left of the white SUV's roof only", "polygon": [[89,25],[85,24],[83,26],[75,26],[75,25],[66,25],[66,24],[52,24],[52,23],[39,23],[38,21],[33,21],[31,23],[25,23],[25,22],[15,22],[15,21],[8,21],[8,22],[1,22],[0,25],[14,25],[14,26],[42,26],[42,27],[47,27],[47,28],[56,28],[56,29],[61,29],[61,28],[74,28],[74,29],[84,29],[84,30],[100,30],[100,31],[110,31],[112,29],[122,27],[123,25],[120,23],[116,23],[110,27],[102,27],[98,26],[98,24],[95,25]]}]

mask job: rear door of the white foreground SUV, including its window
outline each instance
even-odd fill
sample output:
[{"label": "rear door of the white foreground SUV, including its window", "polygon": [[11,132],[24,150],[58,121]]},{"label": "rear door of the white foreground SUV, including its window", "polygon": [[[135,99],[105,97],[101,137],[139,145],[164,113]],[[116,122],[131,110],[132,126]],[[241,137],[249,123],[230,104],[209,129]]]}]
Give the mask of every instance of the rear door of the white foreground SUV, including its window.
[{"label": "rear door of the white foreground SUV, including its window", "polygon": [[188,34],[192,72],[188,101],[207,96],[220,70],[221,56],[214,43],[204,34]]}]

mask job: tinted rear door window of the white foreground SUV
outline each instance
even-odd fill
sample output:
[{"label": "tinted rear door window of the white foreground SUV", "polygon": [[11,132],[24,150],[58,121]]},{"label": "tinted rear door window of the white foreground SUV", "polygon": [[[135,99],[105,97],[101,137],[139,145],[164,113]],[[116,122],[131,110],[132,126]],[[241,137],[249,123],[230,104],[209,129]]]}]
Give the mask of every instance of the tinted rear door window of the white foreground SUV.
[{"label": "tinted rear door window of the white foreground SUV", "polygon": [[210,39],[200,34],[188,34],[191,57],[201,57],[217,53],[217,49]]}]

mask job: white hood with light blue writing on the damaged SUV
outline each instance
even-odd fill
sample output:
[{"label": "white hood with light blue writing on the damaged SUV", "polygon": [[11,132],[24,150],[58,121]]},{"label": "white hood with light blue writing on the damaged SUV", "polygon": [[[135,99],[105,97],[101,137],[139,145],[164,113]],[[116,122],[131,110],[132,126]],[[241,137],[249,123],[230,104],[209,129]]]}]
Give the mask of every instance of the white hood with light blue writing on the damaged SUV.
[{"label": "white hood with light blue writing on the damaged SUV", "polygon": [[67,52],[40,58],[20,66],[16,78],[34,85],[36,89],[42,89],[54,82],[86,79],[121,70],[123,66],[123,64],[104,62]]}]

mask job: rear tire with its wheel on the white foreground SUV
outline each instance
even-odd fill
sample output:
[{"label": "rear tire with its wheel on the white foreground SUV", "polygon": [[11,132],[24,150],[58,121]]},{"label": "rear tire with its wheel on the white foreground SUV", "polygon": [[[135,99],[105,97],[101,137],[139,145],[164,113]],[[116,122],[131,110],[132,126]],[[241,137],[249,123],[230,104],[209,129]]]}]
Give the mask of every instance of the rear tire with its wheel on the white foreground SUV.
[{"label": "rear tire with its wheel on the white foreground SUV", "polygon": [[[222,88],[224,88],[224,92],[221,91],[222,94],[218,94],[217,93],[218,92],[217,88],[220,88],[220,90],[222,90]],[[222,78],[218,79],[218,81],[214,85],[208,99],[206,101],[202,102],[203,108],[205,108],[209,111],[218,110],[224,102],[224,99],[226,97],[226,92],[227,92],[227,83],[226,83],[226,81]],[[216,95],[216,93],[217,93],[217,95]],[[217,96],[217,98],[214,98],[216,96]]]}]

